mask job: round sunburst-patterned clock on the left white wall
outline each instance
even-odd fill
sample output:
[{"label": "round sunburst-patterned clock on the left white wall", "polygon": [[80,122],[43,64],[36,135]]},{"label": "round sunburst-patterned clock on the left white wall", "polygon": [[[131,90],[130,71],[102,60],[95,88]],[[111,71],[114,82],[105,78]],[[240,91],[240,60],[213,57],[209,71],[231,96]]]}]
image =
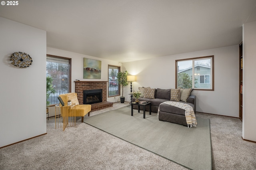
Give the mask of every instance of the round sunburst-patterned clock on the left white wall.
[{"label": "round sunburst-patterned clock on the left white wall", "polygon": [[12,65],[20,68],[27,68],[33,62],[32,58],[27,53],[23,52],[12,53],[10,56],[10,61]]}]

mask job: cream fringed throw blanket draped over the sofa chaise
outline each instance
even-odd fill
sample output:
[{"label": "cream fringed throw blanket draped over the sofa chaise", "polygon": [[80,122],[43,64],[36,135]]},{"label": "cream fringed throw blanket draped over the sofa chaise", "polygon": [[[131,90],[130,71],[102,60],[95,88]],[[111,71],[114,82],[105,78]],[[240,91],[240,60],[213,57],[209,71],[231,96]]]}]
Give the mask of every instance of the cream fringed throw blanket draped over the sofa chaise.
[{"label": "cream fringed throw blanket draped over the sofa chaise", "polygon": [[[186,103],[180,103],[180,102],[175,102],[175,101],[165,101],[165,102],[161,103],[160,105],[162,105],[162,104],[171,105],[171,106],[178,107],[180,109],[185,110],[185,117],[186,117],[186,122],[188,124],[188,127],[196,127],[197,122],[196,122],[196,116],[195,116],[193,107],[191,107],[190,105],[188,105]],[[158,107],[157,115],[159,115],[160,105]]]}]

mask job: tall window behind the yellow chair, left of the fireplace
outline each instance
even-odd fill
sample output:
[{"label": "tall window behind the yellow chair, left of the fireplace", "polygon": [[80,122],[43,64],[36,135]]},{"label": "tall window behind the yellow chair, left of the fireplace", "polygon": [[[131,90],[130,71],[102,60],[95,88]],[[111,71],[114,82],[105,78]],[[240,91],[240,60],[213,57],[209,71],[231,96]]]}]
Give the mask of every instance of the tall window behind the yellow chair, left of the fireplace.
[{"label": "tall window behind the yellow chair, left of the fireplace", "polygon": [[71,58],[46,55],[46,76],[52,77],[56,93],[48,101],[50,105],[59,103],[60,94],[71,92]]}]

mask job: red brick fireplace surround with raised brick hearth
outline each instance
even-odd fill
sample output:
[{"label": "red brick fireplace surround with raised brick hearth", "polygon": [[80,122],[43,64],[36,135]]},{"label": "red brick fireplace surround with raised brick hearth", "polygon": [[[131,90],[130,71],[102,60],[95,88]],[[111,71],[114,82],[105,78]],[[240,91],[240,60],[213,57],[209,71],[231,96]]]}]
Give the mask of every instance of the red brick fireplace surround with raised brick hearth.
[{"label": "red brick fireplace surround with raised brick hearth", "polygon": [[92,104],[92,111],[113,106],[112,102],[107,101],[108,81],[74,81],[74,83],[79,104],[83,104],[84,90],[102,89],[102,102]]}]

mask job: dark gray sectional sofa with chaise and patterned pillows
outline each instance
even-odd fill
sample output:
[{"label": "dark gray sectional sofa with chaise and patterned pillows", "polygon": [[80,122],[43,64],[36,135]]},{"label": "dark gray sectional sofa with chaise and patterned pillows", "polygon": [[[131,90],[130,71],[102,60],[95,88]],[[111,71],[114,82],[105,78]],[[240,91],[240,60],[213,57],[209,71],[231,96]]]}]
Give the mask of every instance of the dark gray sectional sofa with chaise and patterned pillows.
[{"label": "dark gray sectional sofa with chaise and patterned pillows", "polygon": [[[196,113],[196,96],[191,95],[193,89],[190,89],[190,93],[188,93],[188,89],[180,89],[180,96],[178,97],[178,100],[177,97],[171,97],[171,90],[174,89],[150,89],[150,91],[154,93],[151,96],[146,95],[146,91],[149,91],[148,88],[140,87],[139,90],[142,92],[142,96],[139,100],[151,102],[151,111],[154,113],[158,113],[158,107],[161,103],[165,101],[172,101],[171,99],[174,98],[176,102],[186,103],[192,106],[194,113]],[[133,101],[135,101],[135,99],[133,99]],[[134,109],[138,109],[138,106],[134,105]],[[149,111],[149,106],[146,106],[145,109],[146,111]],[[185,110],[171,105],[162,104],[159,109],[158,118],[160,121],[168,121],[187,126]]]}]

